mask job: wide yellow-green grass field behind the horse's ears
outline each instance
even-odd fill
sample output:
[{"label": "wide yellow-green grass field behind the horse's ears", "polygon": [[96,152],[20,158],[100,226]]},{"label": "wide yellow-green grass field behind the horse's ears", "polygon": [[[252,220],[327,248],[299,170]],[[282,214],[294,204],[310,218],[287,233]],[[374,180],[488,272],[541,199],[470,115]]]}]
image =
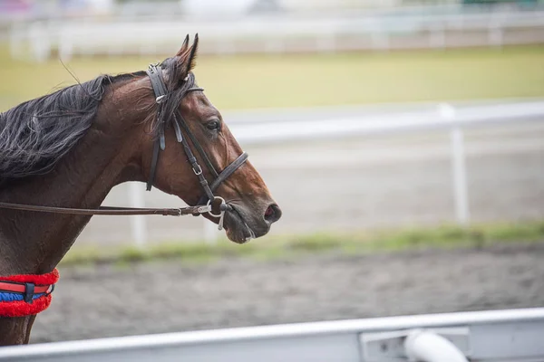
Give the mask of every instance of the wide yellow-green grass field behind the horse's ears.
[{"label": "wide yellow-green grass field behind the horse's ears", "polygon": [[[161,58],[78,58],[68,66],[86,81]],[[542,97],[544,47],[201,56],[195,73],[219,110]],[[5,46],[0,79],[0,110],[74,82],[61,62],[15,62]]]}]

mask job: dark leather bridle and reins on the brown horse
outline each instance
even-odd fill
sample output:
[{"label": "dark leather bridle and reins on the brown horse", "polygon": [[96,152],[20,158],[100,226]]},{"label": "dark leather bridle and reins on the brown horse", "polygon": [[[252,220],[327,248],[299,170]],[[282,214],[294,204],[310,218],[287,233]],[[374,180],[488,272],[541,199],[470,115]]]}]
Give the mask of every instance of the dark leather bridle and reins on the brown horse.
[{"label": "dark leather bridle and reins on the brown horse", "polygon": [[[159,163],[160,151],[166,148],[166,140],[164,137],[164,132],[167,126],[169,125],[168,119],[164,119],[163,106],[165,101],[170,96],[162,76],[162,69],[159,64],[151,64],[147,71],[147,74],[151,80],[151,86],[155,94],[155,102],[157,103],[157,122],[159,122],[158,128],[158,137],[153,144],[153,152],[151,156],[151,170],[150,176],[147,181],[146,190],[151,191],[151,186],[155,180],[155,175],[157,172],[157,165]],[[191,84],[194,81],[194,75],[189,73],[184,81],[189,82],[186,84]],[[180,99],[183,99],[189,92],[202,90],[198,87],[189,87],[184,90],[181,94]],[[197,205],[180,207],[180,208],[138,208],[138,207],[111,207],[111,206],[100,206],[98,209],[78,209],[71,207],[54,207],[54,206],[43,206],[43,205],[23,205],[23,204],[12,204],[12,203],[3,203],[0,202],[0,208],[12,209],[12,210],[25,210],[25,211],[35,211],[35,212],[44,212],[44,213],[55,213],[55,214],[83,214],[83,215],[134,215],[134,214],[161,214],[161,215],[173,215],[180,216],[184,214],[209,214],[213,217],[219,217],[219,230],[222,228],[223,217],[225,212],[232,209],[232,206],[228,205],[222,197],[214,195],[214,191],[217,190],[219,185],[227,180],[228,176],[231,176],[239,167],[241,167],[247,160],[248,154],[243,152],[237,159],[235,159],[228,167],[225,167],[220,173],[213,166],[209,160],[208,155],[202,148],[199,143],[199,140],[194,136],[194,134],[189,129],[187,122],[180,114],[180,111],[176,111],[171,119],[171,124],[176,133],[176,138],[178,142],[183,146],[185,155],[192,167],[194,174],[199,178],[199,183],[204,190],[204,195],[199,198]],[[208,183],[208,180],[204,176],[202,167],[199,165],[197,157],[192,152],[192,149],[189,146],[186,135],[190,138],[190,142],[193,147],[197,149],[199,156],[202,158],[206,167],[209,170],[211,176],[213,176],[213,181],[211,184]]]}]

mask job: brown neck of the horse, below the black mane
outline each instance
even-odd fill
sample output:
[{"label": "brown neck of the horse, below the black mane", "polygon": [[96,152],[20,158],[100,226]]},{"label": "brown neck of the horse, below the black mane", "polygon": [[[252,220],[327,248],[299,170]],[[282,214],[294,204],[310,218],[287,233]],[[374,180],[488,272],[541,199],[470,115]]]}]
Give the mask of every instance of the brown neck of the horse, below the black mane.
[{"label": "brown neck of the horse, below the black mane", "polygon": [[[143,125],[137,124],[145,115],[130,90],[130,83],[109,86],[91,128],[54,170],[0,190],[0,200],[96,208],[113,186],[141,180],[137,142]],[[90,220],[88,215],[0,210],[0,275],[52,271]]]}]

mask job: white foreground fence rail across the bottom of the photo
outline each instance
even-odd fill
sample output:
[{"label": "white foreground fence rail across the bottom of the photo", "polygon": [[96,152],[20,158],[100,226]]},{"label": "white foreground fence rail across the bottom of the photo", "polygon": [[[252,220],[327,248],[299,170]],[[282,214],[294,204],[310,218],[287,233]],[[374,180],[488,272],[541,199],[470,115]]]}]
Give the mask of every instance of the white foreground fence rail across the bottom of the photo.
[{"label": "white foreground fence rail across the bottom of the photo", "polygon": [[[436,359],[436,356],[441,357]],[[0,348],[0,361],[542,361],[544,309],[216,329]]]}]

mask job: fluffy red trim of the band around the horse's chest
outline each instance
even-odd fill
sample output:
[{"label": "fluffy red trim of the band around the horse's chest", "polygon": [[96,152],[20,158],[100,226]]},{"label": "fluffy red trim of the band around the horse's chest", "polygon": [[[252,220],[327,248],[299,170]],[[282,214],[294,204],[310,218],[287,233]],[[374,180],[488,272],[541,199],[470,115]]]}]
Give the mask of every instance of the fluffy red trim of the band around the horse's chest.
[{"label": "fluffy red trim of the band around the horse's chest", "polygon": [[[22,274],[0,276],[0,281],[11,281],[20,287],[24,283],[33,283],[35,286],[52,286],[59,280],[59,271],[55,268],[46,274]],[[24,300],[0,301],[0,317],[24,317],[38,314],[44,311],[51,304],[51,294],[45,293],[43,296],[32,300],[29,303]]]}]

